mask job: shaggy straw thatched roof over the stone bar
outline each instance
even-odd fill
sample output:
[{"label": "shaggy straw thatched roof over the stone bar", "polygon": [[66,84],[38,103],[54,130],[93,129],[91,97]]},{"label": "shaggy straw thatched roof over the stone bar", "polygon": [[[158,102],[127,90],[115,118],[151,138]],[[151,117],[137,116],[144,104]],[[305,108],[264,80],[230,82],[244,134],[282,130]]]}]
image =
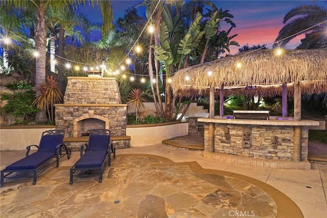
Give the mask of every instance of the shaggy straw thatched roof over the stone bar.
[{"label": "shaggy straw thatched roof over the stone bar", "polygon": [[289,84],[288,94],[293,95],[292,84],[298,82],[302,93],[327,92],[327,49],[284,50],[281,55],[275,52],[249,51],[182,69],[173,76],[173,92],[181,96],[206,94],[210,86],[217,92],[224,84],[225,95],[252,93],[272,97],[281,95],[283,83]]}]

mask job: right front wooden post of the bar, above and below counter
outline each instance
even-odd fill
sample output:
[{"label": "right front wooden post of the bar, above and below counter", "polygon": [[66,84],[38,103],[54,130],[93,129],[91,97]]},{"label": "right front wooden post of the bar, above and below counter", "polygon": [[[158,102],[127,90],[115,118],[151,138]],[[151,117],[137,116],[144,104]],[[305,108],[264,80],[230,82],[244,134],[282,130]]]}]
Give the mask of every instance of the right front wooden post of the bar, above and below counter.
[{"label": "right front wooden post of the bar, above and below counter", "polygon": [[[301,120],[301,86],[294,84],[294,120]],[[301,161],[301,126],[293,127],[293,161]]]}]

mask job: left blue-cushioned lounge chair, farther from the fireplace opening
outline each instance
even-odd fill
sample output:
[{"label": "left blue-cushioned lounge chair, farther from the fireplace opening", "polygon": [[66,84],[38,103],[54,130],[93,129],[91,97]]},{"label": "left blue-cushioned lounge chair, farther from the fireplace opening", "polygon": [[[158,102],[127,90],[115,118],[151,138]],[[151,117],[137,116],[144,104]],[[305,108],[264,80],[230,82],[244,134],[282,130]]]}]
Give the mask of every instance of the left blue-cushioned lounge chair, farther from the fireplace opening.
[{"label": "left blue-cushioned lounge chair, farther from the fireplace opening", "polygon": [[[64,132],[62,130],[48,130],[42,133],[39,145],[29,145],[26,147],[26,157],[10,164],[1,170],[0,186],[3,186],[6,179],[32,178],[33,185],[36,178],[45,169],[56,162],[59,166],[59,159],[67,155],[71,158],[72,151],[67,149],[63,142]],[[30,155],[31,147],[35,146],[37,151]],[[55,160],[54,160],[55,159]],[[14,173],[15,172],[15,173]]]}]

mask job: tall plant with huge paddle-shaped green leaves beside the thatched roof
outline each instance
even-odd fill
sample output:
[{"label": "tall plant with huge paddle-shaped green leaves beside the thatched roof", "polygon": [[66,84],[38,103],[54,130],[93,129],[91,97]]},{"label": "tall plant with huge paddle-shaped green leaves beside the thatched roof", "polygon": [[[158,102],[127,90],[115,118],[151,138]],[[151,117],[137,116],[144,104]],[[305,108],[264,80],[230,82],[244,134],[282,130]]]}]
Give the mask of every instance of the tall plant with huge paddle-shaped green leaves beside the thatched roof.
[{"label": "tall plant with huge paddle-shaped green leaves beside the thatched roof", "polygon": [[[202,1],[196,2],[201,3]],[[167,16],[170,15],[168,12]],[[228,37],[231,28],[235,26],[230,19],[233,16],[228,11],[219,10],[209,13],[211,16],[205,20],[206,25],[202,23],[203,16],[198,12],[189,27],[183,26],[184,21],[180,18],[180,13],[177,13],[177,10],[172,14],[175,16],[171,19],[163,16],[164,19],[162,19],[159,31],[160,43],[155,43],[153,46],[155,59],[161,62],[167,78],[171,77],[176,71],[187,67],[189,59],[194,60],[201,57],[201,62],[203,62],[205,57],[208,57],[208,61],[210,61],[213,59],[212,54],[215,53],[217,58],[219,53],[229,49],[229,45],[239,46],[237,42],[230,41],[236,35]],[[221,21],[226,21],[232,27],[227,32],[220,31],[218,33]],[[211,52],[207,52],[208,50],[211,50]],[[176,119],[176,116],[172,117],[172,106],[175,106],[176,96],[172,96],[169,82],[166,83],[165,93],[166,118]],[[194,96],[191,100],[193,98]],[[177,108],[180,108],[180,104],[181,99],[178,101]],[[188,106],[185,107],[185,111]]]}]

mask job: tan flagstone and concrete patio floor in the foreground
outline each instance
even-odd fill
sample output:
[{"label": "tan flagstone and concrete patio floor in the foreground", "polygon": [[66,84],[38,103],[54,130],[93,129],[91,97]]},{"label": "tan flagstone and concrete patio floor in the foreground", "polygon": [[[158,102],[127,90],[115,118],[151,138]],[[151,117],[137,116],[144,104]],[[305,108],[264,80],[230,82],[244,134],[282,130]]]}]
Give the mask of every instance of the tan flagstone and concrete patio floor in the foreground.
[{"label": "tan flagstone and concrete patio floor in the foreground", "polygon": [[[0,190],[1,216],[229,217],[248,211],[256,217],[323,217],[327,210],[321,201],[325,164],[295,171],[217,164],[202,151],[163,144],[116,152],[102,183],[94,176],[69,185],[69,170],[80,156],[74,151],[42,173],[36,186],[26,179],[6,184]],[[1,167],[19,155],[3,151]]]}]

